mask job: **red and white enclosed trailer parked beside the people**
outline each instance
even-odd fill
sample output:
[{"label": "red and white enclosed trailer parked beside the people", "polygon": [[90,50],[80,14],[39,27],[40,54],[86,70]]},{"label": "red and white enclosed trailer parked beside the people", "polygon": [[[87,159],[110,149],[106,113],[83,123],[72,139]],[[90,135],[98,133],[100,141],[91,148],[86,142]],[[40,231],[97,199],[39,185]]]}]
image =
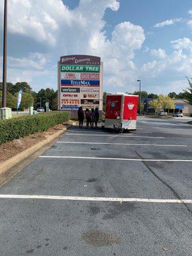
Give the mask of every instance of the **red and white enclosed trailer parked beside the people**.
[{"label": "red and white enclosed trailer parked beside the people", "polygon": [[106,97],[104,128],[116,131],[136,130],[138,95],[109,94]]}]

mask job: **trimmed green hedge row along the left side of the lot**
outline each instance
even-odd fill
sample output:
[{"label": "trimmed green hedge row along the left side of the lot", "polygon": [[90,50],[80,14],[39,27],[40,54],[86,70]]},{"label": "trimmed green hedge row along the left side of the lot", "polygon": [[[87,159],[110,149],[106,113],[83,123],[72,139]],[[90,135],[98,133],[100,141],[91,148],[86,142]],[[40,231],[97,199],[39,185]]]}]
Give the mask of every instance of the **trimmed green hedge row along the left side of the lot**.
[{"label": "trimmed green hedge row along the left side of the lot", "polygon": [[53,111],[51,113],[39,113],[34,116],[0,120],[0,145],[34,132],[47,131],[50,127],[67,122],[69,119],[70,113]]}]

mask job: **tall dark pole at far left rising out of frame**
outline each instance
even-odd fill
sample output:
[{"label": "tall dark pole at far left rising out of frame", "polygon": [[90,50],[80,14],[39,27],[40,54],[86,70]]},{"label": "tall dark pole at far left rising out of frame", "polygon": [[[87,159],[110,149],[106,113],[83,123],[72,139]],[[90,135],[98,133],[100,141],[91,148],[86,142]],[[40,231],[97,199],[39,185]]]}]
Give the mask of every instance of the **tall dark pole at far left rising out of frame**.
[{"label": "tall dark pole at far left rising out of frame", "polygon": [[7,57],[7,0],[4,0],[3,99],[2,99],[2,107],[3,108],[6,108],[6,57]]}]

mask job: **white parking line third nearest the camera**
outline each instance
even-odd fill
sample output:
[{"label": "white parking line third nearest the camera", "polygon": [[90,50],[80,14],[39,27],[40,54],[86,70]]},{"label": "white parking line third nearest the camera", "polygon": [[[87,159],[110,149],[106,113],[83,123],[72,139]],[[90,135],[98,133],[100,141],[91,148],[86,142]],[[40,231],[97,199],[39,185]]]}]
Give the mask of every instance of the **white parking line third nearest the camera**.
[{"label": "white parking line third nearest the camera", "polygon": [[73,142],[73,141],[57,141],[57,143],[70,144],[97,144],[97,145],[122,145],[122,146],[152,146],[152,147],[188,147],[187,145],[166,145],[166,144],[132,144],[132,143],[105,143],[105,142]]}]

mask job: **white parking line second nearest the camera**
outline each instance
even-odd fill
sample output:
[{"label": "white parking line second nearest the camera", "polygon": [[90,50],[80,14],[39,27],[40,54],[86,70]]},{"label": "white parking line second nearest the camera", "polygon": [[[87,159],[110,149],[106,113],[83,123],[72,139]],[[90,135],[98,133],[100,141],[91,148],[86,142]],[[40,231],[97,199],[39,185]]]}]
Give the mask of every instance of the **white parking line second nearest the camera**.
[{"label": "white parking line second nearest the camera", "polygon": [[95,160],[118,160],[118,161],[145,161],[145,162],[192,162],[192,159],[134,159],[134,158],[111,158],[111,157],[84,157],[84,156],[39,156],[42,158],[68,158],[68,159],[95,159]]}]

